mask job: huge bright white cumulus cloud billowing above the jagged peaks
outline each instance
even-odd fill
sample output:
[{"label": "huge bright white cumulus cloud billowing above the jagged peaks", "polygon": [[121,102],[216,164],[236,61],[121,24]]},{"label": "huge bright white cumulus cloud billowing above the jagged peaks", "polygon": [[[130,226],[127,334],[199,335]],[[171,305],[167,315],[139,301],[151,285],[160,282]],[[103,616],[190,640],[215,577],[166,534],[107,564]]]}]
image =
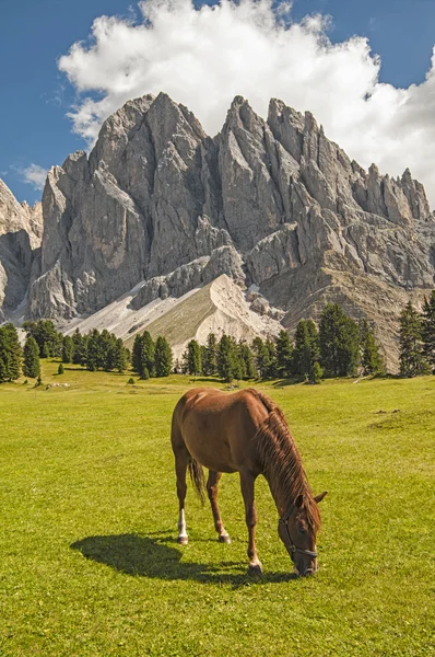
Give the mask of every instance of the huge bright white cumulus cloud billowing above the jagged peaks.
[{"label": "huge bright white cumulus cloud billowing above the jagged peaks", "polygon": [[96,19],[90,42],[59,59],[78,90],[73,129],[90,143],[109,114],[144,93],[165,91],[212,135],[235,95],[263,117],[279,97],[313,112],[362,165],[391,175],[409,166],[435,204],[435,49],[425,81],[397,89],[379,82],[365,37],[332,44],[328,16],[292,22],[290,2],[146,0],[139,9],[139,21]]}]

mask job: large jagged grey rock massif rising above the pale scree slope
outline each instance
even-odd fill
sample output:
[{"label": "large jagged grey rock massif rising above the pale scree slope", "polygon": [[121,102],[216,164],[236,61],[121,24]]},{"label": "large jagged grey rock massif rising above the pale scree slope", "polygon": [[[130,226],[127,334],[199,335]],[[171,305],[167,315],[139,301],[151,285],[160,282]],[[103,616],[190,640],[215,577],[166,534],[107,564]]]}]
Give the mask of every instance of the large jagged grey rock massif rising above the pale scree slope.
[{"label": "large jagged grey rock massif rising above the pale scree slope", "polygon": [[278,308],[289,328],[331,300],[368,316],[393,362],[398,312],[434,287],[423,186],[408,170],[365,171],[311,114],[278,100],[263,120],[237,96],[214,138],[164,93],[130,101],[89,157],[50,171],[43,215],[40,251],[13,296],[31,279],[33,319],[68,323],[143,281],[139,310],[225,274],[248,290],[247,308]]}]

